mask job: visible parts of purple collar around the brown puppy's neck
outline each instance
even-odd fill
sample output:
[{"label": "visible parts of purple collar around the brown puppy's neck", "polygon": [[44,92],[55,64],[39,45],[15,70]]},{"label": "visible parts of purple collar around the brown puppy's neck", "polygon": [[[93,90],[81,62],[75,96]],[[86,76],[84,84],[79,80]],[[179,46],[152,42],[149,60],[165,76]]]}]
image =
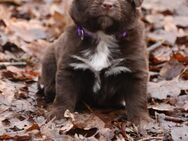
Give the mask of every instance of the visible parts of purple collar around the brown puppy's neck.
[{"label": "visible parts of purple collar around the brown puppy's neck", "polygon": [[[81,40],[84,40],[86,37],[92,37],[94,39],[97,39],[97,36],[89,31],[86,31],[82,26],[77,26],[77,34],[80,37]],[[127,32],[119,32],[115,35],[117,39],[123,39],[127,37]]]}]

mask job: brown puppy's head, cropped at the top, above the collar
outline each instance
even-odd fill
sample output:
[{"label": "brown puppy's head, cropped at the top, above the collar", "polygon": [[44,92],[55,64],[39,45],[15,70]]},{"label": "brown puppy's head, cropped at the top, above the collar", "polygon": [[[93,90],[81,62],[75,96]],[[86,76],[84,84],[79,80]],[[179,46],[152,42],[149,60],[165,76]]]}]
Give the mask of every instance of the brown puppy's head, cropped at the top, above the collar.
[{"label": "brown puppy's head, cropped at the top, above the collar", "polygon": [[70,14],[74,22],[91,31],[116,32],[138,18],[143,0],[73,0]]}]

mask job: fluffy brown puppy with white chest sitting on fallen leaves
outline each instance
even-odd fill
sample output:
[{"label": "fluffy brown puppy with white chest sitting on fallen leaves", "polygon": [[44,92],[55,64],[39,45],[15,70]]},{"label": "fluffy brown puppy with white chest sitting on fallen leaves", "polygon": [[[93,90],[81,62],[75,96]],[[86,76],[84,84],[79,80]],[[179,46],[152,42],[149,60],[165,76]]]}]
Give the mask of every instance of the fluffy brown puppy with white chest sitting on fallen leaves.
[{"label": "fluffy brown puppy with white chest sitting on fallen leaves", "polygon": [[73,0],[75,25],[42,63],[45,96],[53,101],[50,117],[62,118],[85,101],[99,107],[126,103],[129,120],[147,120],[148,63],[137,9],[142,1]]}]

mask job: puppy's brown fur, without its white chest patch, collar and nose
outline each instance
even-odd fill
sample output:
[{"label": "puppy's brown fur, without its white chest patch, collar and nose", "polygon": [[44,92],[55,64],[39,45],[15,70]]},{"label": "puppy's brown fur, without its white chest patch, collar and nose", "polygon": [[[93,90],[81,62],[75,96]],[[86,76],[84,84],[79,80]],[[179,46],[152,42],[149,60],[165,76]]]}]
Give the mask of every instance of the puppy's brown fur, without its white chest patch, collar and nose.
[{"label": "puppy's brown fur, without its white chest patch, collar and nose", "polygon": [[[115,0],[115,8],[108,13],[100,9],[104,0],[74,0],[71,16],[75,25],[67,28],[60,38],[48,49],[42,63],[42,80],[45,96],[53,101],[50,117],[62,118],[66,109],[74,111],[81,101],[99,107],[110,107],[126,101],[128,119],[139,124],[147,115],[148,62],[144,42],[144,26],[139,19],[137,6],[142,0]],[[95,77],[90,70],[74,70],[70,63],[76,62],[71,55],[89,49],[95,50],[97,43],[92,38],[81,40],[76,34],[76,26],[88,31],[106,34],[127,31],[127,37],[117,39],[119,53],[113,59],[124,58],[121,64],[131,69],[131,73],[120,73],[104,77],[101,70],[101,89],[97,94],[92,87]]]}]

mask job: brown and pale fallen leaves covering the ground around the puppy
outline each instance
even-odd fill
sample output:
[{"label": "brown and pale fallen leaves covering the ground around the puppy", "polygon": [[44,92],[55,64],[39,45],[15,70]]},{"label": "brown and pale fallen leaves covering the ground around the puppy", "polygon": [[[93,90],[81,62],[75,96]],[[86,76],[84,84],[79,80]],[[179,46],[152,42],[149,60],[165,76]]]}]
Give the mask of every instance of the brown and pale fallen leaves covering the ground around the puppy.
[{"label": "brown and pale fallen leaves covering the ground around the puppy", "polygon": [[0,140],[188,141],[188,1],[145,0],[150,63],[145,133],[122,111],[64,113],[46,121],[38,87],[46,47],[71,23],[68,0],[0,0]]}]

